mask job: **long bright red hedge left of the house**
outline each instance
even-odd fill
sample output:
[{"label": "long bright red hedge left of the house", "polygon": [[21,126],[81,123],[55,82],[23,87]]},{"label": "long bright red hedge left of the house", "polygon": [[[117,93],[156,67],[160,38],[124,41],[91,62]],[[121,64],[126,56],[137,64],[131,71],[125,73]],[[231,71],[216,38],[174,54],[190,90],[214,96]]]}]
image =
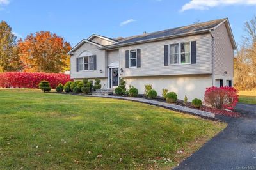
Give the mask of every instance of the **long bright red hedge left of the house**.
[{"label": "long bright red hedge left of the house", "polygon": [[63,73],[0,73],[1,88],[38,88],[38,84],[42,80],[49,81],[51,87],[55,89],[59,83],[65,84],[70,81],[70,76]]}]

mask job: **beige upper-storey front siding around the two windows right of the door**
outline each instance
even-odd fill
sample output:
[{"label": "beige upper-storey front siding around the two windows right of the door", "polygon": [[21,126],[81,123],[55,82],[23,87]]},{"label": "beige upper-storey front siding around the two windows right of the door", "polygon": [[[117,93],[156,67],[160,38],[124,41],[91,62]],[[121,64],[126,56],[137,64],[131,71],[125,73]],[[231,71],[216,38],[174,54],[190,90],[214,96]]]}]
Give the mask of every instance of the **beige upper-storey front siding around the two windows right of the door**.
[{"label": "beige upper-storey front siding around the two windows right of the door", "polygon": [[[196,64],[164,66],[164,45],[196,41]],[[212,50],[211,35],[186,36],[171,40],[143,43],[120,47],[120,68],[124,69],[122,77],[148,75],[182,75],[182,74],[211,74]],[[141,67],[125,68],[125,50],[141,49]]]}]

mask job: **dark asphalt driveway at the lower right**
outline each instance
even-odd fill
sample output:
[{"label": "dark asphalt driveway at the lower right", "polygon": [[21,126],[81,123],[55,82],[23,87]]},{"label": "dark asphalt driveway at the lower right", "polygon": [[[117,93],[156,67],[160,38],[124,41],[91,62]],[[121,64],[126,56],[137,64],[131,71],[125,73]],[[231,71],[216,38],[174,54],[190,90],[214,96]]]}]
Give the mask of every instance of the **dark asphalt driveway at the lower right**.
[{"label": "dark asphalt driveway at the lower right", "polygon": [[256,105],[237,104],[243,116],[216,116],[227,128],[175,169],[256,169]]}]

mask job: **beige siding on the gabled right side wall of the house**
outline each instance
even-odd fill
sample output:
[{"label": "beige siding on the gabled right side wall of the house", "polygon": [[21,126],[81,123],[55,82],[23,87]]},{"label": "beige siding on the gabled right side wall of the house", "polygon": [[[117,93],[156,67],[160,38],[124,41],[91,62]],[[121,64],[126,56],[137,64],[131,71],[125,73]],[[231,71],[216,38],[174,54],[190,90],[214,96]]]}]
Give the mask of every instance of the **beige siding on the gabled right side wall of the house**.
[{"label": "beige siding on the gabled right side wall of the house", "polygon": [[[214,74],[233,77],[234,50],[225,24],[221,24],[214,32]],[[227,71],[227,74],[224,72]]]}]

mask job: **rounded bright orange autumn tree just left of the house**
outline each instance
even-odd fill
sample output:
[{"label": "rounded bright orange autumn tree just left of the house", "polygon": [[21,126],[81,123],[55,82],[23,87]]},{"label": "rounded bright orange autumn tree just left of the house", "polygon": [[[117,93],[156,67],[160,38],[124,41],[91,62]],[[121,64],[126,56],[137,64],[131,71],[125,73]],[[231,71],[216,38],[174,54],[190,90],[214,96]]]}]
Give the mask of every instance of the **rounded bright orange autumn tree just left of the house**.
[{"label": "rounded bright orange autumn tree just left of the house", "polygon": [[69,70],[67,52],[70,44],[49,31],[40,31],[19,40],[19,56],[26,72],[54,72]]}]

